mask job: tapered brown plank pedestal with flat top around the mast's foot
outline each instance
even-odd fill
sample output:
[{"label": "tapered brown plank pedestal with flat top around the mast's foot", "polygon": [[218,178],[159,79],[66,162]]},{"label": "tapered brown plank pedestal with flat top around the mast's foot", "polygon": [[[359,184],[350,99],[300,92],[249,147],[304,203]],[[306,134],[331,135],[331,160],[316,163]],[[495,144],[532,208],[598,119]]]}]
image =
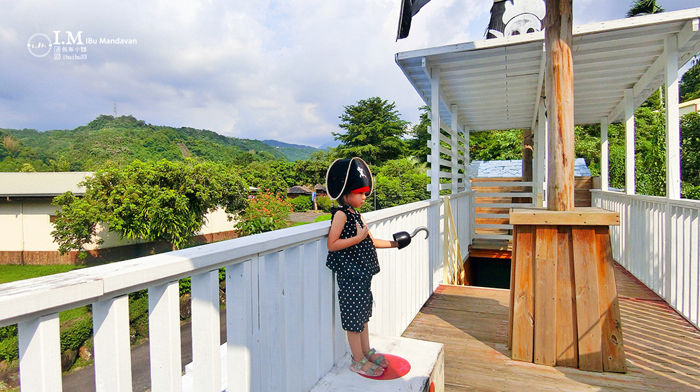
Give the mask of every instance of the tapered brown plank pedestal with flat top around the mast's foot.
[{"label": "tapered brown plank pedestal with flat top around the mast's foot", "polygon": [[513,209],[512,358],[626,372],[608,225],[619,214]]}]

